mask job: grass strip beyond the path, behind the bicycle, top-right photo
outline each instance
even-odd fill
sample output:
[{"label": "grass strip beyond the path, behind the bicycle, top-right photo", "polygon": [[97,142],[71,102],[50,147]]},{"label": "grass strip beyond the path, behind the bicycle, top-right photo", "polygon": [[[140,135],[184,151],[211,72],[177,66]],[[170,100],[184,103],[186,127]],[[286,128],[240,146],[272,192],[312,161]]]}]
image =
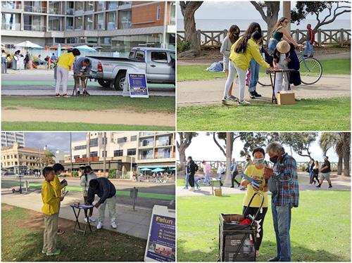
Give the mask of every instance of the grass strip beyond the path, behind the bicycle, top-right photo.
[{"label": "grass strip beyond the path, behind the bicycle, top-right photo", "polygon": [[[321,60],[323,75],[349,75],[351,74],[351,59],[339,58]],[[202,65],[177,65],[177,82],[187,80],[204,80],[225,78],[225,72],[209,72],[205,71],[208,64]],[[261,68],[260,75],[265,75]]]}]

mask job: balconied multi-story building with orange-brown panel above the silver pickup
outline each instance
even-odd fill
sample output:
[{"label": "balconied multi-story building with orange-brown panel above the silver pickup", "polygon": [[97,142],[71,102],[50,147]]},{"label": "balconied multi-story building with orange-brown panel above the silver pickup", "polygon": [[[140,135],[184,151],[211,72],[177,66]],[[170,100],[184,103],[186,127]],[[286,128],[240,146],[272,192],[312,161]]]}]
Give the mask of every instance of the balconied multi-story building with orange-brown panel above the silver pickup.
[{"label": "balconied multi-story building with orange-brown panel above the silver pickup", "polygon": [[175,47],[173,1],[1,1],[1,44]]}]

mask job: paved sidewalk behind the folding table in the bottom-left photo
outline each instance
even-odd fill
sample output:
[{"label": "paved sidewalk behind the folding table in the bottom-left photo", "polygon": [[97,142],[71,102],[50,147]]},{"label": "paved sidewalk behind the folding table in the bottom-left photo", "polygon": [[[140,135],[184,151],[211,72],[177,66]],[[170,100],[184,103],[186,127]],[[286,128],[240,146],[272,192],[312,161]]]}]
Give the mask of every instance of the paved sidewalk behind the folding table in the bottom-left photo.
[{"label": "paved sidewalk behind the folding table in the bottom-left photo", "polygon": [[[14,205],[17,207],[23,207],[26,209],[41,212],[42,210],[42,195],[41,193],[12,193],[11,189],[2,189],[1,191],[1,202],[8,205]],[[63,202],[61,203],[60,217],[75,221],[75,215],[73,209],[69,206],[73,203],[83,203],[81,195],[68,194]],[[98,199],[96,199],[98,200]],[[117,231],[119,233],[125,233],[130,236],[137,238],[148,238],[149,224],[151,220],[151,209],[144,207],[136,207],[133,211],[132,207],[128,205],[116,205],[117,212],[117,223],[118,228],[112,229],[108,218],[108,207],[106,207],[105,221],[103,222],[103,228],[110,231]],[[94,208],[94,217],[97,219],[99,211]],[[83,211],[79,217],[80,222],[84,222]],[[96,231],[97,222],[92,223],[93,231]],[[89,233],[89,232],[88,232]]]}]

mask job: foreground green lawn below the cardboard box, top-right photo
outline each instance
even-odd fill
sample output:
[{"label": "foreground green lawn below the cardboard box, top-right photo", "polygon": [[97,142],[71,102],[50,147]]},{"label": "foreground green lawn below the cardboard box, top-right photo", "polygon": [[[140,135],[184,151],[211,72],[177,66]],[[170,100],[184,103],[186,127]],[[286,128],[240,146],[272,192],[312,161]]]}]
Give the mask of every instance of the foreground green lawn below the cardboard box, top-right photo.
[{"label": "foreground green lawn below the cardboard box, top-right photo", "polygon": [[351,128],[351,98],[301,99],[294,105],[252,101],[251,105],[177,108],[180,131],[344,131]]}]

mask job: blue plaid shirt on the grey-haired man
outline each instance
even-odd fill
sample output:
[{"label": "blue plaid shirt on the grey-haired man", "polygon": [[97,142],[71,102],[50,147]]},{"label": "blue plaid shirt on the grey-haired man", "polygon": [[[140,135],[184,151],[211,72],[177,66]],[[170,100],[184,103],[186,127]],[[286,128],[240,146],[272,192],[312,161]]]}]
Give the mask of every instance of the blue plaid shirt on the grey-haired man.
[{"label": "blue plaid shirt on the grey-haired man", "polygon": [[274,165],[272,179],[277,184],[277,194],[272,196],[276,206],[291,204],[298,207],[299,190],[296,160],[287,153],[281,156]]}]

